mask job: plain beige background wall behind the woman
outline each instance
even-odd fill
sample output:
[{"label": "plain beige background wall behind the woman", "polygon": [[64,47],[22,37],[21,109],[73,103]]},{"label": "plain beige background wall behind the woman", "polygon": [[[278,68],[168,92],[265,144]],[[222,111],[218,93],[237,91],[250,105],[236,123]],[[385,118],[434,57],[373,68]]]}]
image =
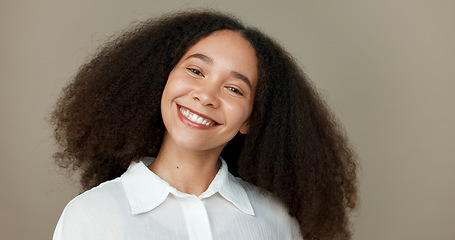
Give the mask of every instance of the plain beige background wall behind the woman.
[{"label": "plain beige background wall behind the woman", "polygon": [[200,7],[280,41],[346,127],[354,239],[455,239],[455,1],[0,0],[1,239],[50,239],[78,192],[45,121],[78,66],[132,21]]}]

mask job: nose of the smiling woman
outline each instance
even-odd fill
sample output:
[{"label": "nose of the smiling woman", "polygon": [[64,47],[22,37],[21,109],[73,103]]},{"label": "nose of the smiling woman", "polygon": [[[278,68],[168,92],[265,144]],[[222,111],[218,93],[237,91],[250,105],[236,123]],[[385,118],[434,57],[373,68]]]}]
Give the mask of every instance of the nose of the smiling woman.
[{"label": "nose of the smiling woman", "polygon": [[203,106],[218,108],[220,106],[218,86],[204,81],[191,92],[191,97]]}]

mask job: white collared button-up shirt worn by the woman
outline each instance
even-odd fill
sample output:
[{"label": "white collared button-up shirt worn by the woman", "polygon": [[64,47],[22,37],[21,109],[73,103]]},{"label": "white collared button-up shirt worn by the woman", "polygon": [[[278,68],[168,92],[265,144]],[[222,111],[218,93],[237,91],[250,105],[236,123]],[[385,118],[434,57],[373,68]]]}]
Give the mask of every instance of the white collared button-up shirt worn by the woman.
[{"label": "white collared button-up shirt worn by the woman", "polygon": [[[150,161],[150,160],[149,160]],[[295,218],[222,165],[200,196],[179,192],[132,163],[119,178],[77,196],[63,211],[54,240],[302,239]]]}]

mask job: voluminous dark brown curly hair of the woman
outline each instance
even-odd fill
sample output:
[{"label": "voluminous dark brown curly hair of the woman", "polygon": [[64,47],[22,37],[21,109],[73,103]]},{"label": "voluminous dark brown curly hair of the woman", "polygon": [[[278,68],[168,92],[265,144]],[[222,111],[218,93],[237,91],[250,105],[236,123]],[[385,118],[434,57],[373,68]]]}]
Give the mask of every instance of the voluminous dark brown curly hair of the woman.
[{"label": "voluminous dark brown curly hair of the woman", "polygon": [[242,34],[256,50],[259,79],[247,135],[222,152],[234,175],[280,199],[305,239],[350,239],[356,163],[343,131],[306,75],[275,41],[212,11],[164,15],[107,43],[63,90],[51,116],[62,167],[90,189],[156,156],[161,94],[189,47],[214,31]]}]

